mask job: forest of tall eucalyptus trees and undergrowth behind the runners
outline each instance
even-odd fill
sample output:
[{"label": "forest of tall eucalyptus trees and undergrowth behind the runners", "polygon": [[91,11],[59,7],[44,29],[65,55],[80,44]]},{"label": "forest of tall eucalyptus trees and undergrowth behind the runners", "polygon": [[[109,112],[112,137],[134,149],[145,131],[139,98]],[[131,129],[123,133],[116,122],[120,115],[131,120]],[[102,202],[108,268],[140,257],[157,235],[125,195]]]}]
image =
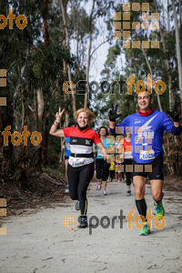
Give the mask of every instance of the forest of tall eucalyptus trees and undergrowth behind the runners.
[{"label": "forest of tall eucalyptus trees and undergrowth behind the runners", "polygon": [[[159,13],[159,29],[131,31],[132,40],[156,40],[159,48],[123,48],[122,30],[121,39],[114,39],[114,13],[123,12],[123,3],[142,5],[148,1],[0,2],[1,15],[7,17],[12,8],[16,17],[27,18],[24,29],[19,29],[15,20],[13,29],[9,29],[9,23],[0,29],[0,69],[6,69],[6,86],[0,86],[1,97],[6,97],[6,106],[0,106],[0,131],[11,126],[12,135],[15,131],[22,133],[27,126],[31,134],[37,131],[42,136],[38,146],[33,145],[30,137],[27,146],[23,142],[15,146],[11,136],[5,146],[4,137],[0,136],[0,196],[10,203],[21,200],[26,206],[32,195],[44,197],[65,187],[63,139],[48,134],[59,106],[66,109],[62,127],[73,120],[74,112],[81,107],[95,113],[96,120],[91,124],[94,129],[108,126],[107,112],[112,103],[117,103],[118,112],[122,113],[118,122],[137,111],[134,89],[132,95],[127,95],[126,87],[120,94],[118,85],[113,94],[103,94],[101,89],[96,94],[90,92],[92,66],[96,63],[98,71],[103,66],[99,64],[99,53],[105,45],[106,62],[96,75],[98,85],[104,81],[112,84],[122,77],[126,80],[132,74],[135,82],[146,82],[150,74],[155,82],[162,80],[166,84],[166,91],[160,96],[153,86],[154,108],[167,113],[177,106],[182,114],[181,1],[149,1],[149,12]],[[131,12],[130,20],[142,22],[141,10]],[[88,83],[82,95],[78,94],[80,80]],[[69,89],[72,94],[63,90],[66,81],[76,84],[75,89]],[[107,87],[104,85],[103,90]],[[181,136],[165,133],[165,171],[175,181],[181,181],[182,176],[181,140]]]}]

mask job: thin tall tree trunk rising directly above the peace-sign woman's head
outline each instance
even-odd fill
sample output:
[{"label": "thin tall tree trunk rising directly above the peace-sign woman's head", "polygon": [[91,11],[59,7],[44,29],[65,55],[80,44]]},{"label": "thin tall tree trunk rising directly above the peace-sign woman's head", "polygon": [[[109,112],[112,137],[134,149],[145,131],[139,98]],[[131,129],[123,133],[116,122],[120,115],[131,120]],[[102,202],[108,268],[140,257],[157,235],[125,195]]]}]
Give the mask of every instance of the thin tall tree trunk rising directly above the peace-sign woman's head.
[{"label": "thin tall tree trunk rising directly above the peace-sign woman's head", "polygon": [[90,18],[89,18],[89,46],[88,46],[88,58],[87,58],[87,69],[86,69],[86,94],[85,94],[85,102],[84,102],[84,107],[87,108],[87,103],[88,103],[88,80],[89,80],[89,70],[90,70],[90,58],[91,58],[91,48],[92,48],[92,16],[94,13],[94,8],[95,8],[95,2],[96,0],[93,0],[92,3],[92,10],[90,13]]}]

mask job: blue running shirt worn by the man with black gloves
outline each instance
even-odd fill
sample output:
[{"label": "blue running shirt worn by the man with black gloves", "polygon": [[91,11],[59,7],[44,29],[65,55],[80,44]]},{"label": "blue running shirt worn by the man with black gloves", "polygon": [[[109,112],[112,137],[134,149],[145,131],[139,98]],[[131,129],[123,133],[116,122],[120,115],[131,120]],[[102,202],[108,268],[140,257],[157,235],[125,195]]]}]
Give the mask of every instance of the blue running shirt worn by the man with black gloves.
[{"label": "blue running shirt worn by the man with black gloves", "polygon": [[[164,131],[171,132],[173,121],[163,112],[154,110],[149,116],[135,113],[116,125],[116,134],[129,132],[131,135],[132,156],[136,163],[146,164],[154,161],[162,152]],[[114,132],[111,129],[111,134]]]}]

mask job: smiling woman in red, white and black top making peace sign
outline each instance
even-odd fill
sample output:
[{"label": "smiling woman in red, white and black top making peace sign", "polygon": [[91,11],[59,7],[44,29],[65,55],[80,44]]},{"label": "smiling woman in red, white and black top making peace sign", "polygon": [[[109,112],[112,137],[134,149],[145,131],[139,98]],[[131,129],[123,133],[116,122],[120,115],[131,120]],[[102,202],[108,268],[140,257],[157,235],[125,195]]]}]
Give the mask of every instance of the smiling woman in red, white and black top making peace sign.
[{"label": "smiling woman in red, white and black top making peace sign", "polygon": [[86,190],[94,175],[94,156],[92,152],[93,143],[103,153],[106,159],[106,148],[102,145],[96,132],[89,128],[88,123],[95,119],[95,115],[88,109],[82,108],[74,114],[77,126],[65,129],[58,129],[65,109],[56,113],[56,121],[50,129],[50,135],[70,136],[71,155],[68,160],[67,177],[69,184],[69,195],[72,200],[79,200],[81,216],[79,218],[79,227],[87,227],[87,199]]}]

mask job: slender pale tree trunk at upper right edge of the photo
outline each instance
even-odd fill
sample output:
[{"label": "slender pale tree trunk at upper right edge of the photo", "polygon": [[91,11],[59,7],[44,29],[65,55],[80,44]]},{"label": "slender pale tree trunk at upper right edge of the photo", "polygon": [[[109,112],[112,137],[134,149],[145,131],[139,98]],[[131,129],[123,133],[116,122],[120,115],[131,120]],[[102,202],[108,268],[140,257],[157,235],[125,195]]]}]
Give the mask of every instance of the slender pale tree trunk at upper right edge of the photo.
[{"label": "slender pale tree trunk at upper right edge of the photo", "polygon": [[177,45],[177,68],[178,68],[178,81],[179,91],[181,96],[181,115],[182,115],[182,64],[181,64],[181,51],[180,51],[180,40],[179,40],[179,28],[177,24],[177,12],[174,0],[171,0],[173,7],[173,15],[175,19],[175,34],[176,34],[176,45]]}]

